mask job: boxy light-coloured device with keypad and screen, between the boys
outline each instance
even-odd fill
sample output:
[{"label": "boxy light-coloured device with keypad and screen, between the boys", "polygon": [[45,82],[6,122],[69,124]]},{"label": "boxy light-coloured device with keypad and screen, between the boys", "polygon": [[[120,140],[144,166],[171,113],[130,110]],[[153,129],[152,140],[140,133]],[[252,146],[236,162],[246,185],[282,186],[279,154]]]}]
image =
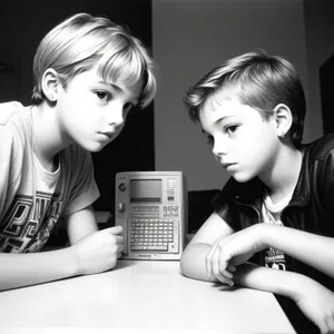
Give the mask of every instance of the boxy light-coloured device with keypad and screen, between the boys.
[{"label": "boxy light-coloured device with keypad and screen, between the boys", "polygon": [[116,175],[116,225],[129,259],[179,259],[187,230],[187,190],[180,171]]}]

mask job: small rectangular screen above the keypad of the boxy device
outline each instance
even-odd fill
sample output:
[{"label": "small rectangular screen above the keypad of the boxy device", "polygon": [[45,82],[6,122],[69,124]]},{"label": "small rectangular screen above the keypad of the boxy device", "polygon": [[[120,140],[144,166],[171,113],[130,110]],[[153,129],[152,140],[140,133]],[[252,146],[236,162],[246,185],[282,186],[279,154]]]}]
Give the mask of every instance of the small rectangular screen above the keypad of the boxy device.
[{"label": "small rectangular screen above the keypad of the boxy device", "polygon": [[131,179],[130,202],[161,202],[161,179]]}]

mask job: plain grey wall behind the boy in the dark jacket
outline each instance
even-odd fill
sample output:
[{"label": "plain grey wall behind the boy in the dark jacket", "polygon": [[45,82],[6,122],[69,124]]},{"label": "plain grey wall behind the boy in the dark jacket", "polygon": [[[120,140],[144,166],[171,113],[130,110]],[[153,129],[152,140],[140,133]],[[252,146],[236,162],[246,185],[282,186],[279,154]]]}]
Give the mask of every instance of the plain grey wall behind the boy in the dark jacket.
[{"label": "plain grey wall behind the boy in the dark jacket", "polygon": [[[160,78],[156,169],[183,170],[189,190],[220,188],[228,175],[184,111],[184,94],[223,60],[257,47],[295,63],[308,94],[305,40],[303,0],[153,0],[153,46]],[[314,121],[318,101],[313,104],[305,141],[322,134]]]}]

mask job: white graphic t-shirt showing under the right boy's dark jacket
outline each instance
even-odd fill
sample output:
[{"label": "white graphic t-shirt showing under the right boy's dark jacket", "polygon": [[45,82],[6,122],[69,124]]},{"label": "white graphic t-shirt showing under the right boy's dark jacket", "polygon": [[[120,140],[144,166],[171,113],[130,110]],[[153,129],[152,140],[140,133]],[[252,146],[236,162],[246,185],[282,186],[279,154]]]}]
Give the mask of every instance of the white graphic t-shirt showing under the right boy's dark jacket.
[{"label": "white graphic t-shirt showing under the right boy's dark jacket", "polygon": [[[291,198],[292,194],[274,204],[269,195],[265,193],[262,206],[264,223],[283,226],[283,223],[281,220],[281,213],[287,206]],[[265,266],[274,269],[285,271],[286,263],[284,253],[279,249],[274,249],[273,247],[267,248],[265,250]]]}]

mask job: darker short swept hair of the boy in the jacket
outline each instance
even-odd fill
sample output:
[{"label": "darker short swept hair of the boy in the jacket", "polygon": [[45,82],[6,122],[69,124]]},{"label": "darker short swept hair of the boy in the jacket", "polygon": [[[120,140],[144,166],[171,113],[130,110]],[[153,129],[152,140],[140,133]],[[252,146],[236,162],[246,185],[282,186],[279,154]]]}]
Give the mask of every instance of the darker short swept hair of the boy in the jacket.
[{"label": "darker short swept hair of the boy in the jacket", "polygon": [[273,115],[278,104],[285,104],[293,116],[289,136],[299,147],[306,101],[298,73],[287,59],[256,50],[223,62],[188,89],[184,105],[191,120],[199,122],[204,104],[220,90],[230,91],[240,104],[256,109],[264,119]]}]

